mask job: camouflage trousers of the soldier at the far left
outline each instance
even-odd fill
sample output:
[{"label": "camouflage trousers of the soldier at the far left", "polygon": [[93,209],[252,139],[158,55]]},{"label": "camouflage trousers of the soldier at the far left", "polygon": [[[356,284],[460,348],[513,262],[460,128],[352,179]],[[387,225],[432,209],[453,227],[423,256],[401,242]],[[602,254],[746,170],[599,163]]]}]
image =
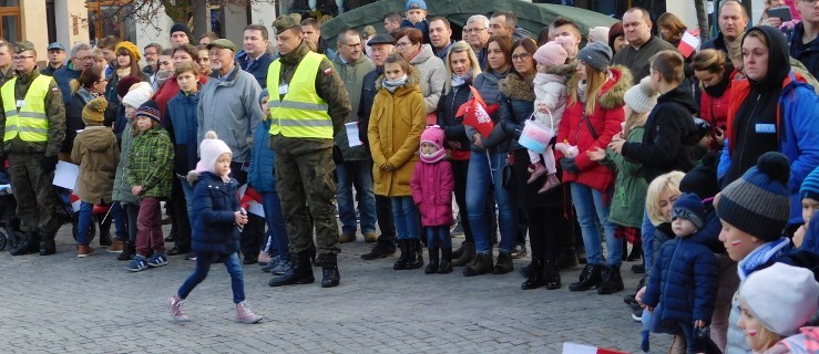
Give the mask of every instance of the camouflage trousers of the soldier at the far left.
[{"label": "camouflage trousers of the soldier at the far left", "polygon": [[43,158],[43,154],[9,154],[11,188],[23,232],[44,235],[60,229],[59,204],[52,186],[54,171],[42,169]]}]

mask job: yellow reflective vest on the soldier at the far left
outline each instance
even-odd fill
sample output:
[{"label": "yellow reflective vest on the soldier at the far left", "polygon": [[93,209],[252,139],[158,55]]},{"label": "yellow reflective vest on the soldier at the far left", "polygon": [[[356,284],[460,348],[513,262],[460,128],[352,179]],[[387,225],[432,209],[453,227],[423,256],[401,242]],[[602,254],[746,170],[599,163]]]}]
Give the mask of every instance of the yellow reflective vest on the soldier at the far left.
[{"label": "yellow reflective vest on the soldier at the far left", "polygon": [[49,117],[45,115],[45,95],[53,79],[39,75],[34,79],[25,93],[25,102],[18,111],[14,86],[17,77],[9,80],[0,87],[0,97],[3,100],[6,112],[6,134],[3,142],[20,136],[23,142],[44,143],[49,139]]}]

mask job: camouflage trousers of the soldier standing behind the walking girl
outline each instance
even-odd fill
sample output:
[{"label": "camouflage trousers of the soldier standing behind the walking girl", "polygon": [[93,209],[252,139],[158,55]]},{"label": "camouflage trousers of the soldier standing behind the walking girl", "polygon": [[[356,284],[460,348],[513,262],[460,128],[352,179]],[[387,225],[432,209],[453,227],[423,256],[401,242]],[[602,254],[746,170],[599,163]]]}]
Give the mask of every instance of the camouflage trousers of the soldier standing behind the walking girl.
[{"label": "camouflage trousers of the soldier standing behind the walking girl", "polygon": [[318,252],[338,253],[341,249],[338,247],[336,206],[332,204],[336,196],[332,147],[305,148],[310,143],[280,136],[270,142],[276,153],[276,190],[281,200],[290,252],[310,248],[315,223]]}]

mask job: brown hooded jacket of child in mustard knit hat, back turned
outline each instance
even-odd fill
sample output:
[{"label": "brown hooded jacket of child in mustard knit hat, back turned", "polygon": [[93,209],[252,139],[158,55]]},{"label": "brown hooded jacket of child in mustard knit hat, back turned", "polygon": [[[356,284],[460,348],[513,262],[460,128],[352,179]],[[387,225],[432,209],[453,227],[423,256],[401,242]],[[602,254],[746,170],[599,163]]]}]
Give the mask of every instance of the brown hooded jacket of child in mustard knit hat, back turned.
[{"label": "brown hooded jacket of child in mustard knit hat, back turned", "polygon": [[88,204],[111,201],[120,146],[106,126],[90,126],[76,135],[71,160],[80,165],[75,194]]}]

